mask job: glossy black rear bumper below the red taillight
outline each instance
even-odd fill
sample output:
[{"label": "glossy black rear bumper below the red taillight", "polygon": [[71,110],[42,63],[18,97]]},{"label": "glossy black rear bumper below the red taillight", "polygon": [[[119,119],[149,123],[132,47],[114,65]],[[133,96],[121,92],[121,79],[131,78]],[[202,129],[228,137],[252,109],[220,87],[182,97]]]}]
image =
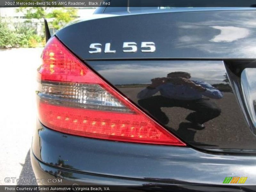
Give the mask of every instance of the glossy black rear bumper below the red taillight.
[{"label": "glossy black rear bumper below the red taillight", "polygon": [[[56,132],[40,123],[32,152],[37,178],[51,178],[53,174],[68,184],[221,185],[225,177],[237,175],[248,177],[246,185],[253,185],[256,179],[255,156],[212,155],[189,147],[89,139]],[[62,177],[54,174],[58,170]]]}]

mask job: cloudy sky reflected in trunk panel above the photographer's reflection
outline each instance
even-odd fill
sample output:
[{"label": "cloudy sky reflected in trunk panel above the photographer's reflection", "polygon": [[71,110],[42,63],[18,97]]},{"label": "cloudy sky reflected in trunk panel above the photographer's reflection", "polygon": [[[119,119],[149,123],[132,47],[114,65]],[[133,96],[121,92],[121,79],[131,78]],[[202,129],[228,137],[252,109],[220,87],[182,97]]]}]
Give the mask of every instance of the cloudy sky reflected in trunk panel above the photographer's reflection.
[{"label": "cloudy sky reflected in trunk panel above the photographer's reflection", "polygon": [[226,74],[222,61],[102,61],[94,67],[112,84],[149,84],[152,78],[166,77],[175,71],[190,73],[192,80],[219,84],[223,83]]}]

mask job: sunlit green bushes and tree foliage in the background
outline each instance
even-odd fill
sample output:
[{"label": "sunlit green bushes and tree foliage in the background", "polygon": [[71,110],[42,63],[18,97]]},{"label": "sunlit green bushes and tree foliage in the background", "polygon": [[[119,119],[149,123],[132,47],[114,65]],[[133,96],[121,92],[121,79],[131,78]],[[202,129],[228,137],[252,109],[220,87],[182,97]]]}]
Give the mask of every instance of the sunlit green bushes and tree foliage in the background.
[{"label": "sunlit green bushes and tree foliage in the background", "polygon": [[[31,0],[16,1],[31,2]],[[44,46],[44,36],[36,35],[36,29],[31,27],[33,25],[30,19],[53,18],[49,24],[59,29],[77,17],[77,11],[74,8],[20,7],[17,12],[24,12],[28,20],[25,23],[18,23],[15,29],[11,29],[8,22],[0,18],[0,48]]]}]

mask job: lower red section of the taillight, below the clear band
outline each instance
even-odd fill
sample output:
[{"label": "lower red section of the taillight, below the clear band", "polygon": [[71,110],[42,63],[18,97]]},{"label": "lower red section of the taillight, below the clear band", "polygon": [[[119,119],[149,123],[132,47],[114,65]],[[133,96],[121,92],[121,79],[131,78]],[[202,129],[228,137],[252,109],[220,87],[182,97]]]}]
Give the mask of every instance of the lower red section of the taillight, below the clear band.
[{"label": "lower red section of the taillight, below the clear band", "polygon": [[56,131],[84,137],[129,142],[176,144],[172,135],[147,117],[106,111],[63,108],[40,103],[40,119]]}]

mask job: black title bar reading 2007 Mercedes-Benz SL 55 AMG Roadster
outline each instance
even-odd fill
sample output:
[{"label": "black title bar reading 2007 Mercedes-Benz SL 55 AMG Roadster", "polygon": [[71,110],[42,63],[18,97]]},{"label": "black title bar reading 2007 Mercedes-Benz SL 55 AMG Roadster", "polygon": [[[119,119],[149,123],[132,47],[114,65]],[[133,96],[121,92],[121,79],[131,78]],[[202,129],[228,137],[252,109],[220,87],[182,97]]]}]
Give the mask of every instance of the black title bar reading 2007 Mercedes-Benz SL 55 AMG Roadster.
[{"label": "black title bar reading 2007 Mercedes-Benz SL 55 AMG Roadster", "polygon": [[256,7],[256,0],[1,0],[0,7]]}]

